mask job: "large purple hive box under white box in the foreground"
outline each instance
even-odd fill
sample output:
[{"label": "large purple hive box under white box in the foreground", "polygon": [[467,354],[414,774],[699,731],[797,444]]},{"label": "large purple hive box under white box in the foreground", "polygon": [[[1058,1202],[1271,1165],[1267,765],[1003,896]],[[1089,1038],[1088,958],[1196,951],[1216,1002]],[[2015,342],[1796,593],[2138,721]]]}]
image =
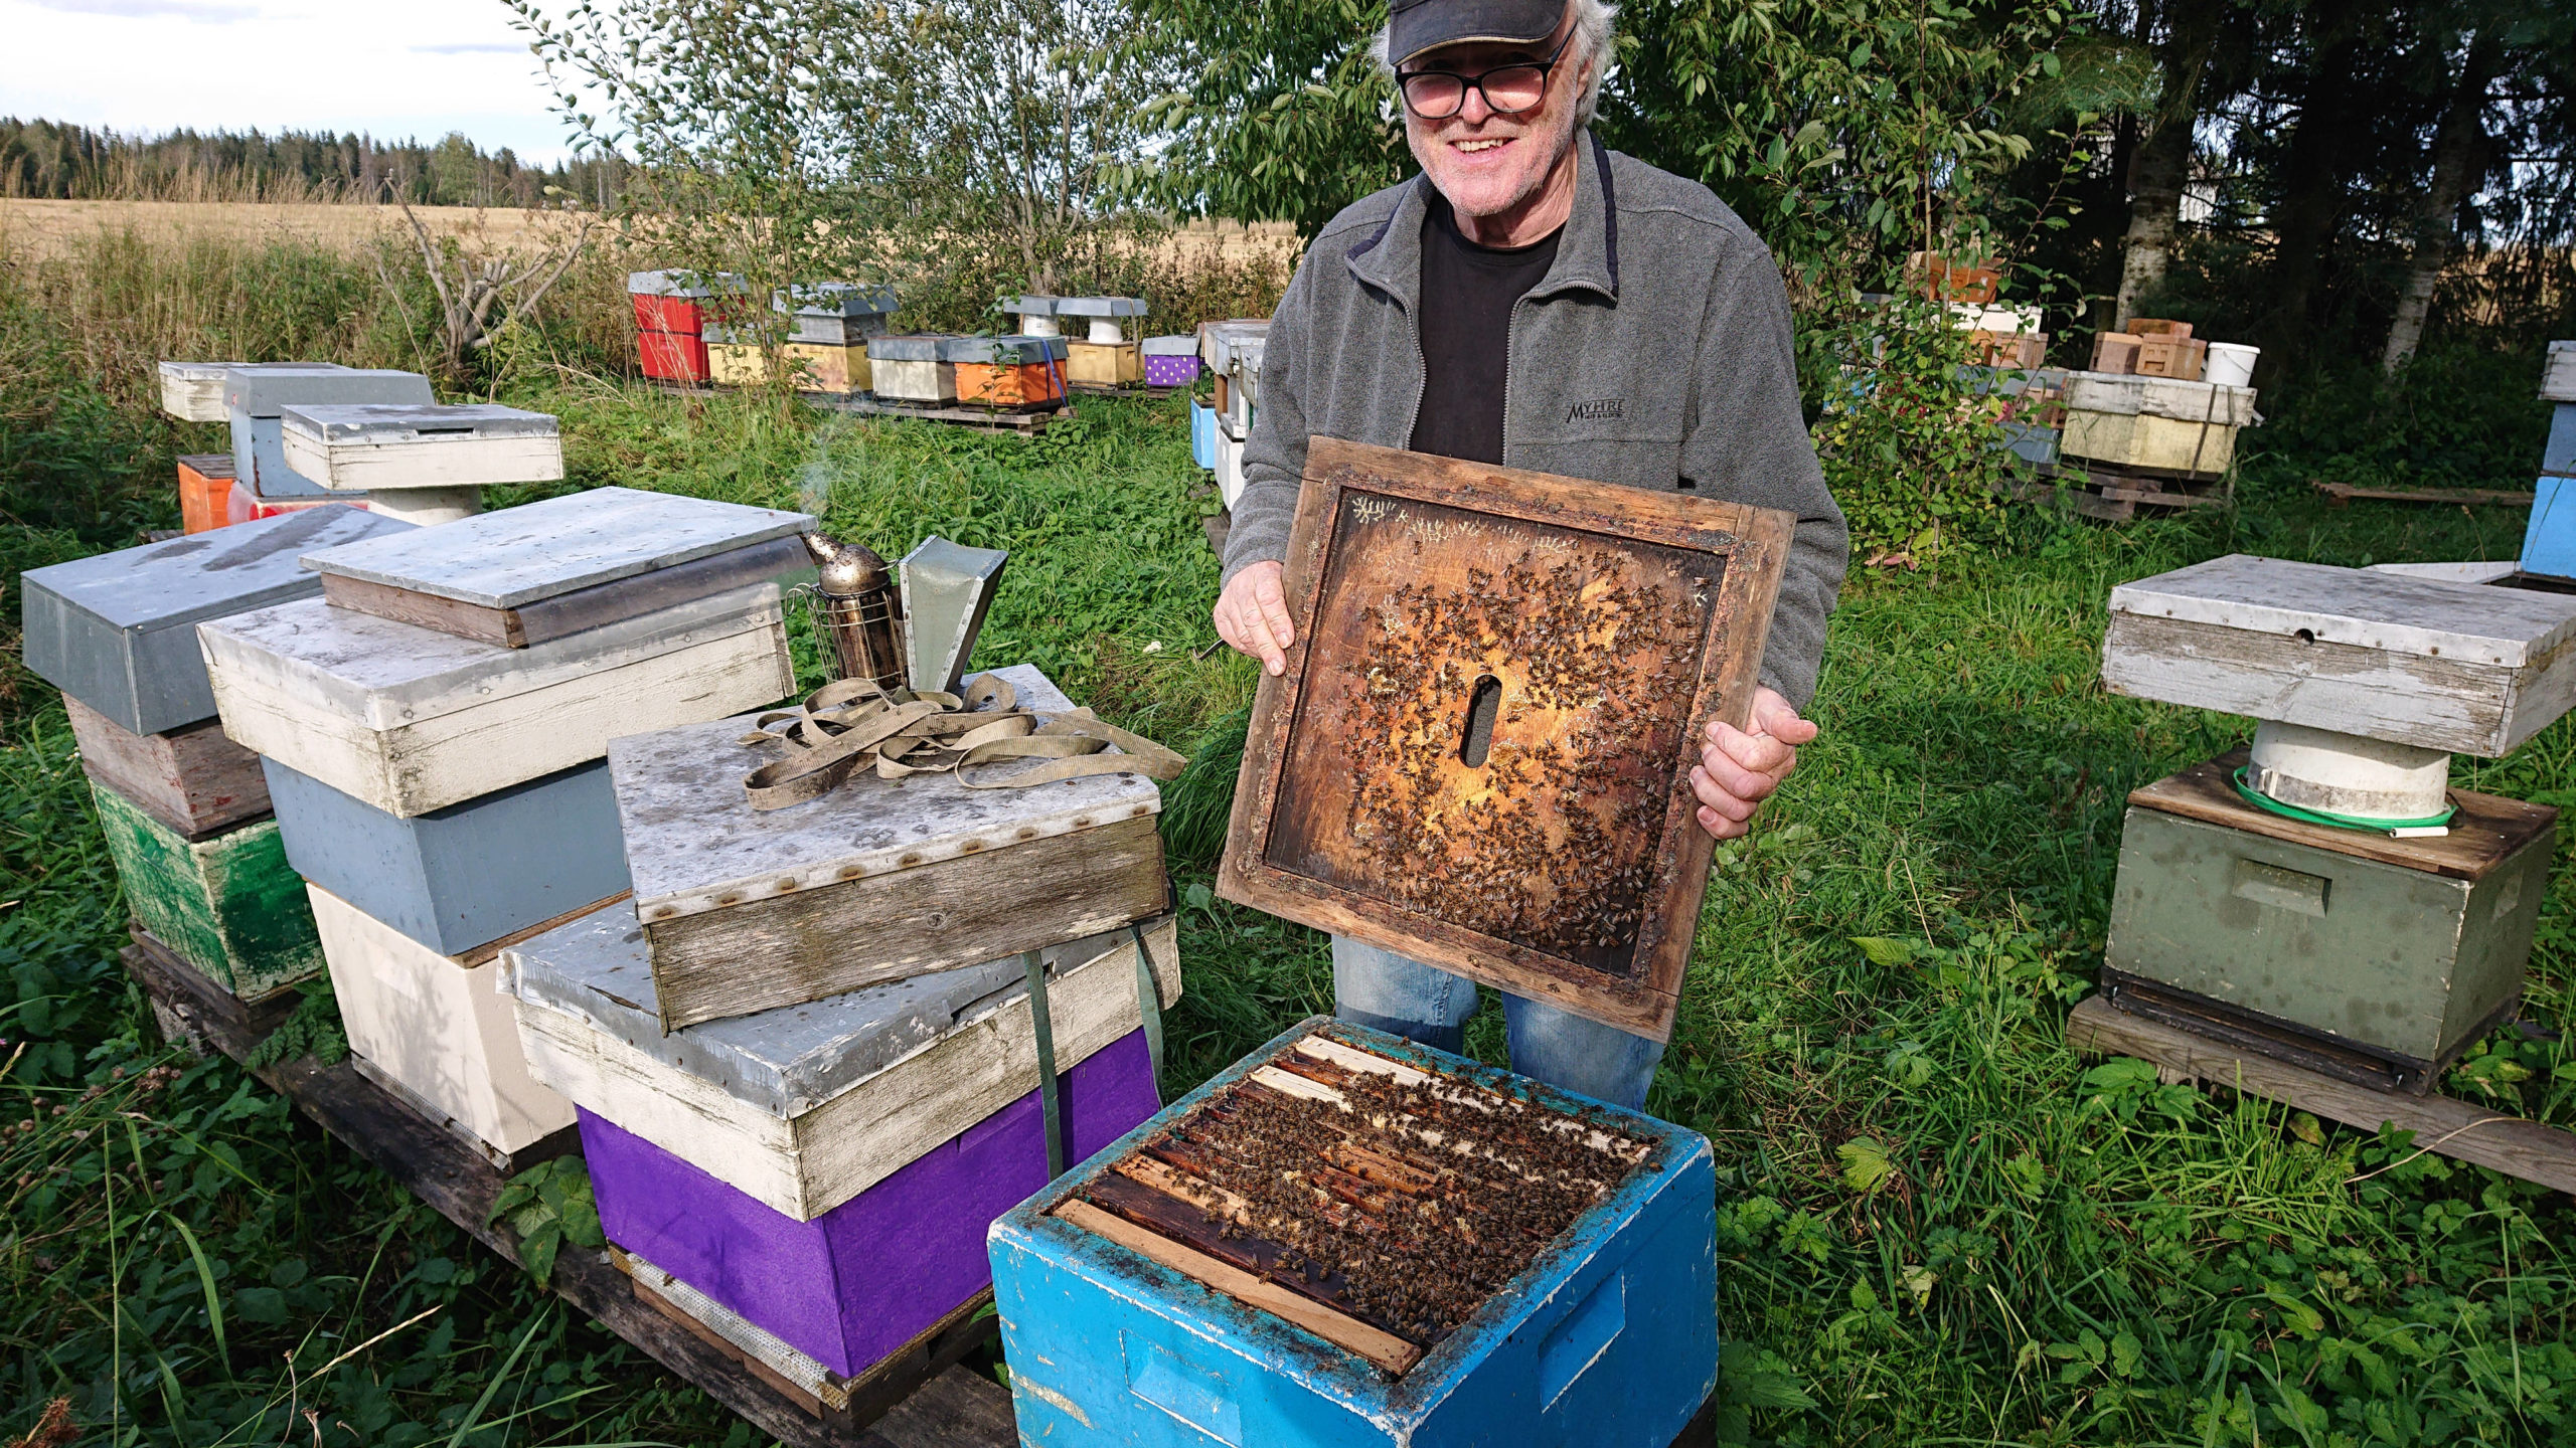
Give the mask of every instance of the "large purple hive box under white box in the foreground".
[{"label": "large purple hive box under white box in the foreground", "polygon": [[[1144,1031],[1061,1082],[1072,1157],[1100,1152],[1162,1108]],[[587,1108],[580,1116],[608,1239],[842,1378],[984,1291],[984,1232],[1046,1185],[1038,1092],[814,1221],[773,1211]]]}]

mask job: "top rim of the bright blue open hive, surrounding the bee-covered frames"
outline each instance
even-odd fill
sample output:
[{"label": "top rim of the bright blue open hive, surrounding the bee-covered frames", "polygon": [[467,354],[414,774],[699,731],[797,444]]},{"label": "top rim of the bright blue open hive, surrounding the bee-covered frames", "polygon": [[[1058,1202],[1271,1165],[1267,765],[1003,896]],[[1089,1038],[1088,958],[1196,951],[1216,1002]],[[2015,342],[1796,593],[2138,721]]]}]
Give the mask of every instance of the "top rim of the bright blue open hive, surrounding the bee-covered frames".
[{"label": "top rim of the bright blue open hive, surrounding the bee-covered frames", "polygon": [[[1589,1211],[1574,1219],[1558,1242],[1551,1242],[1517,1278],[1489,1296],[1486,1304],[1461,1322],[1455,1332],[1432,1345],[1419,1363],[1406,1368],[1401,1378],[1386,1378],[1355,1353],[1329,1345],[1319,1348],[1319,1340],[1309,1337],[1303,1329],[1291,1327],[1285,1319],[1255,1306],[1244,1306],[1231,1296],[1206,1291],[1175,1299],[1170,1288],[1162,1286],[1162,1275],[1167,1273],[1164,1268],[1144,1262],[1131,1250],[1054,1216],[1059,1206],[1084,1196],[1095,1180],[1133,1157],[1139,1147],[1164,1131],[1172,1121],[1180,1121],[1211,1098],[1234,1090],[1273,1059],[1296,1049],[1296,1043],[1306,1036],[1324,1036],[1327,1041],[1383,1056],[1401,1067],[1448,1077],[1463,1087],[1517,1095],[1566,1116],[1579,1110],[1595,1113],[1597,1118],[1605,1118],[1602,1126],[1615,1129],[1633,1141],[1643,1141],[1646,1157],[1615,1188],[1595,1201]],[[1231,1342],[1236,1342],[1239,1353],[1260,1363],[1288,1366],[1301,1384],[1363,1417],[1378,1422],[1419,1422],[1443,1399],[1448,1399],[1448,1394],[1455,1391],[1484,1358],[1492,1355],[1499,1340],[1510,1337],[1520,1327],[1520,1319],[1512,1314],[1515,1304],[1546,1301],[1564,1291],[1577,1281],[1579,1270],[1592,1260],[1595,1250],[1618,1229],[1620,1221],[1638,1216],[1646,1201],[1672,1190],[1695,1170],[1705,1172],[1710,1159],[1708,1139],[1687,1126],[1674,1126],[1636,1110],[1561,1092],[1543,1082],[1515,1077],[1512,1072],[1499,1072],[1466,1056],[1404,1041],[1401,1036],[1314,1015],[1270,1038],[1265,1046],[1226,1067],[1190,1095],[1162,1108],[1151,1121],[1092,1154],[1087,1165],[1066,1172],[1038,1196],[1015,1206],[994,1221],[992,1239],[997,1247],[1010,1239],[1046,1239],[1051,1242],[1048,1255],[1059,1255],[1064,1247],[1072,1247],[1092,1262],[1118,1262],[1121,1275],[1139,1278],[1139,1291],[1164,1304],[1162,1311],[1211,1322]]]}]

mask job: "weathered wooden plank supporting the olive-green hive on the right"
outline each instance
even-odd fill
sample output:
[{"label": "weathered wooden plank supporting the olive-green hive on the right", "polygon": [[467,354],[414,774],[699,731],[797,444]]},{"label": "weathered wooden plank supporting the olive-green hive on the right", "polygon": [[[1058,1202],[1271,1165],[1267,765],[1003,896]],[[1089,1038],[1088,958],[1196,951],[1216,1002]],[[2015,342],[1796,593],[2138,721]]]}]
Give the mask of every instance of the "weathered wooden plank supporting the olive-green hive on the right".
[{"label": "weathered wooden plank supporting the olive-green hive on the right", "polygon": [[2154,1062],[2166,1082],[2208,1082],[2251,1092],[2360,1131],[2378,1131],[2383,1123],[2414,1131],[2416,1147],[2424,1152],[2576,1193],[2576,1131],[2501,1116],[2447,1095],[2406,1095],[2354,1085],[2130,1015],[2099,995],[2076,1002],[2066,1018],[2066,1043],[2102,1056]]}]

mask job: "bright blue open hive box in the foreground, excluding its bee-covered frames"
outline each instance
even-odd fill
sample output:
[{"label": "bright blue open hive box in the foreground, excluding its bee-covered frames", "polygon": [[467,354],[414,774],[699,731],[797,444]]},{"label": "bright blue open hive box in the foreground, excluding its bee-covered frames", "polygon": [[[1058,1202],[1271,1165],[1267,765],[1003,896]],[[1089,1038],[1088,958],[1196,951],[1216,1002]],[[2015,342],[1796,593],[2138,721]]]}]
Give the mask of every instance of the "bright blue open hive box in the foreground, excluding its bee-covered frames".
[{"label": "bright blue open hive box in the foreground, excluding its bee-covered frames", "polygon": [[[1172,1121],[1244,1080],[1275,1082],[1278,1062],[1316,1049],[1365,1051],[1463,1092],[1584,1110],[1602,1131],[1643,1144],[1643,1157],[1409,1366],[1231,1296],[1267,1293],[1288,1304],[1280,1311],[1311,1314],[1273,1278],[1234,1273],[1239,1283],[1221,1291],[1208,1286],[1221,1281],[1216,1270],[1164,1265],[1175,1257],[1141,1229],[1123,1229],[1141,1244],[1121,1244],[1077,1224],[1126,1221],[1110,1221],[1090,1196],[1115,1185],[1113,1172],[1133,1180],[1141,1149]],[[1713,1216],[1716,1175],[1695,1131],[1314,1018],[994,1221],[994,1304],[1020,1440],[1664,1448],[1718,1376]]]}]

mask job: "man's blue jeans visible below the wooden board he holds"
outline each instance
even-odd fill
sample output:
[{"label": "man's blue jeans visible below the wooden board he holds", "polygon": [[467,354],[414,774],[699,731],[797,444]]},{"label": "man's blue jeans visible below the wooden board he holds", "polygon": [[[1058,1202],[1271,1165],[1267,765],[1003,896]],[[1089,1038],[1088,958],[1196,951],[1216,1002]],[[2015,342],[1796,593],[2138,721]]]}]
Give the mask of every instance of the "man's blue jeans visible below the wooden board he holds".
[{"label": "man's blue jeans visible below the wooden board he holds", "polygon": [[[1332,938],[1332,1013],[1406,1041],[1458,1051],[1476,1013],[1476,982],[1437,966]],[[1553,1087],[1641,1110],[1664,1043],[1587,1020],[1543,1000],[1502,995],[1512,1069]]]}]

